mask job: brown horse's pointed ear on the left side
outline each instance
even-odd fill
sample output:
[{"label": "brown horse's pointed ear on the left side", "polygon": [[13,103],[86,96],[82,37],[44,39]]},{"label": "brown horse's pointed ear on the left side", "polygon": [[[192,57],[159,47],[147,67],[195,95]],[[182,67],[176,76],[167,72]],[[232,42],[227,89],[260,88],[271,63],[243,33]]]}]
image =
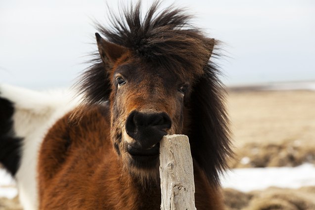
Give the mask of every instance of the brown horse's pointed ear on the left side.
[{"label": "brown horse's pointed ear on the left side", "polygon": [[104,64],[112,66],[118,58],[120,58],[127,49],[115,43],[107,42],[98,33],[95,33],[98,52]]}]

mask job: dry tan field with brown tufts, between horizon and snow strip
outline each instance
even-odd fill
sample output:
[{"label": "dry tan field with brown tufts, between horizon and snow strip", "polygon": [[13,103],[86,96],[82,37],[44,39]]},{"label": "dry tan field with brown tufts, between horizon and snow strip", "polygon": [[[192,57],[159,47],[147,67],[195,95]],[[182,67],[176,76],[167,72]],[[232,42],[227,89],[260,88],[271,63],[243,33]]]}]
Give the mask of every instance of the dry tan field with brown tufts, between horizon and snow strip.
[{"label": "dry tan field with brown tufts, between horizon and snow strip", "polygon": [[315,163],[315,91],[229,91],[227,106],[232,168]]}]

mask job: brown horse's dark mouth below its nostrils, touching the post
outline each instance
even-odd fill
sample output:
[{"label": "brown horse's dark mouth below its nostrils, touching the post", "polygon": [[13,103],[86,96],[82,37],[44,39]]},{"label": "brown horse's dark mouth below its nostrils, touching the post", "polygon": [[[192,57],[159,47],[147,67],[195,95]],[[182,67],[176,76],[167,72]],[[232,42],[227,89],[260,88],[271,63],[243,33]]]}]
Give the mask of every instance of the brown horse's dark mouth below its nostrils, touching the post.
[{"label": "brown horse's dark mouth below its nostrils, touching the post", "polygon": [[128,144],[127,151],[134,159],[157,157],[160,154],[160,143],[156,143],[147,149],[136,148]]}]

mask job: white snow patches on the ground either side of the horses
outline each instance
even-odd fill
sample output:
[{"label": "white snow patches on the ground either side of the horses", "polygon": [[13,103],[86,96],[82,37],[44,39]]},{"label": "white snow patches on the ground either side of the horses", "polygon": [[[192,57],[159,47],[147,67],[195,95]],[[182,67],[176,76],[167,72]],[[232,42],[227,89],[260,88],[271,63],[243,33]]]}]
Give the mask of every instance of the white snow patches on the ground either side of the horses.
[{"label": "white snow patches on the ground either side of the horses", "polygon": [[[0,169],[0,197],[14,198],[17,190],[11,176]],[[223,187],[243,192],[263,190],[271,186],[299,188],[315,186],[315,167],[303,164],[299,167],[237,168],[222,177]]]}]

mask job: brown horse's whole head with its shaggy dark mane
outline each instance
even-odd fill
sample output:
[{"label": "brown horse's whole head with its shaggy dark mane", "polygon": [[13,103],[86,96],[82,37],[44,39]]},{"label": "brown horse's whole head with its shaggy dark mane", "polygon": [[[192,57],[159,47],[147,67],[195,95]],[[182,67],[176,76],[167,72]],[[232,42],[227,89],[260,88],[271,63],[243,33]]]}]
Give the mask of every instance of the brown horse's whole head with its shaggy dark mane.
[{"label": "brown horse's whole head with its shaggy dark mane", "polygon": [[113,146],[131,174],[157,180],[160,140],[186,134],[216,182],[229,151],[223,91],[209,61],[217,42],[187,24],[183,10],[157,10],[155,3],[142,19],[138,3],[111,29],[98,25],[98,57],[81,91],[89,103],[109,102]]}]

